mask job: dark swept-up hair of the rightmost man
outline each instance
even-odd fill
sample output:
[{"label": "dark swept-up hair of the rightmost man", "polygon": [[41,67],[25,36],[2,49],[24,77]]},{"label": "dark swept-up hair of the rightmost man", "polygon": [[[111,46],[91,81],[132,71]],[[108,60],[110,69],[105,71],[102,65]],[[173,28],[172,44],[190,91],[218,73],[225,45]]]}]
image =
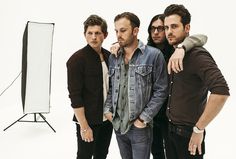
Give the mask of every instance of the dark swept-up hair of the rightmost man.
[{"label": "dark swept-up hair of the rightmost man", "polygon": [[171,4],[164,11],[165,17],[168,17],[170,15],[174,15],[174,14],[177,14],[181,17],[181,22],[182,22],[183,26],[185,26],[186,24],[189,24],[191,21],[191,14],[181,4],[180,5]]}]

